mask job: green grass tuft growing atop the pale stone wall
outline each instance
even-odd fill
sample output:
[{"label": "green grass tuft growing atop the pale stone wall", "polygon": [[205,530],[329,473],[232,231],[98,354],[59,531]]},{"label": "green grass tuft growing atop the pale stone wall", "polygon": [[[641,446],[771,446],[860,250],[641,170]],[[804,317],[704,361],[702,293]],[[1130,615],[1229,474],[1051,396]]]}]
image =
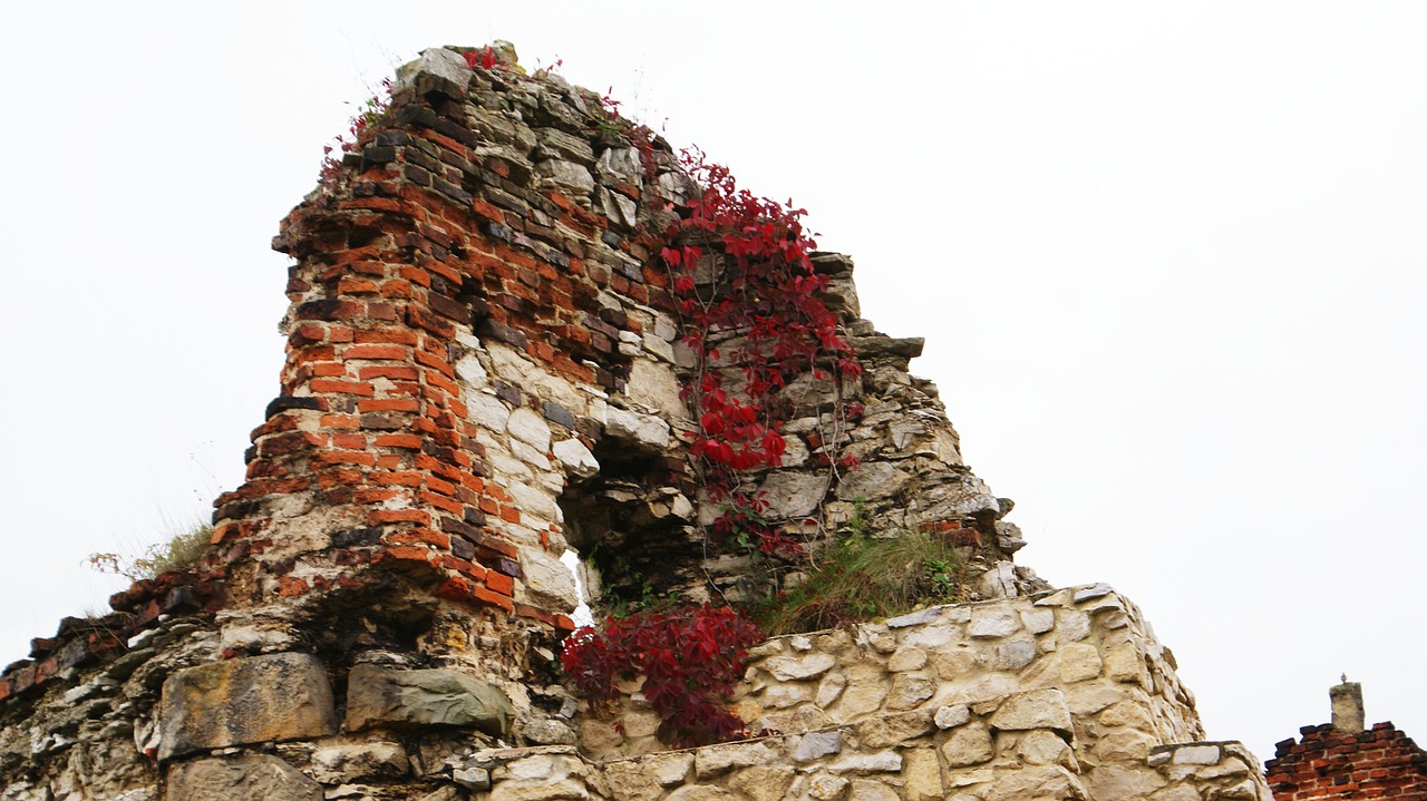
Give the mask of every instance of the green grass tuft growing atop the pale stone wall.
[{"label": "green grass tuft growing atop the pale stone wall", "polygon": [[875,539],[866,527],[859,503],[838,536],[813,554],[808,579],[769,597],[753,610],[753,620],[771,634],[789,634],[959,600],[962,560],[955,543],[913,532]]}]

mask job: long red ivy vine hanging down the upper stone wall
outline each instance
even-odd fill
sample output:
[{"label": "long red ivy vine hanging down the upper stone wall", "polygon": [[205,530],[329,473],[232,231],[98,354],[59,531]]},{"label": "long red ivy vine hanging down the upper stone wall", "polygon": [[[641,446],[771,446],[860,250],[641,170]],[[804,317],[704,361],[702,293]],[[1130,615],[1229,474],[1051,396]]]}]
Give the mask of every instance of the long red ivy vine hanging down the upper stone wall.
[{"label": "long red ivy vine hanging down the upper stone wall", "polygon": [[[682,388],[698,422],[691,452],[704,466],[709,500],[723,505],[716,533],[756,543],[762,553],[798,554],[798,542],[763,520],[766,505],[745,479],[782,465],[788,403],[781,392],[789,381],[812,372],[841,388],[862,365],[822,301],[828,277],[812,265],[808,212],[739,188],[726,167],[698,150],[684,151],[682,164],[702,192],[665,231],[669,244],[659,258],[685,318],[684,342],[698,356]],[[719,352],[721,339],[733,342],[729,352]],[[735,369],[741,382],[729,381]],[[828,466],[856,466],[850,456],[835,458],[832,439]]]}]

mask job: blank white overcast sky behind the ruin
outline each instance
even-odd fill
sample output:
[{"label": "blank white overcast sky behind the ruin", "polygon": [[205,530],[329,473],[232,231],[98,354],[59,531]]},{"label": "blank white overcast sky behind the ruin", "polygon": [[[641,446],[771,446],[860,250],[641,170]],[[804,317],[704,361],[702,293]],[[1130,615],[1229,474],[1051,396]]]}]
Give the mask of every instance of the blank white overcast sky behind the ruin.
[{"label": "blank white overcast sky behind the ruin", "polygon": [[1271,757],[1344,671],[1427,738],[1414,1],[13,6],[0,663],[241,480],[278,218],[398,63],[492,38],[805,205],[1019,562],[1134,599],[1212,738]]}]

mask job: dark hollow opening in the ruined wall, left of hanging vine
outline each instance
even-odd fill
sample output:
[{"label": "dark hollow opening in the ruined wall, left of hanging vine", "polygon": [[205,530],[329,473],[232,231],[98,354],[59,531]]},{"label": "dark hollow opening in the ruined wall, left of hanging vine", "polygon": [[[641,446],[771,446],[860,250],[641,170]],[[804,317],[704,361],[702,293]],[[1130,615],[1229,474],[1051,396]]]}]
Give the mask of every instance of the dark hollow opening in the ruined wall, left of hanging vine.
[{"label": "dark hollow opening in the ruined wall, left of hanging vine", "polygon": [[682,460],[612,436],[601,438],[594,455],[599,472],[571,482],[559,506],[595,617],[671,594],[704,600],[704,554],[694,505],[681,489]]}]

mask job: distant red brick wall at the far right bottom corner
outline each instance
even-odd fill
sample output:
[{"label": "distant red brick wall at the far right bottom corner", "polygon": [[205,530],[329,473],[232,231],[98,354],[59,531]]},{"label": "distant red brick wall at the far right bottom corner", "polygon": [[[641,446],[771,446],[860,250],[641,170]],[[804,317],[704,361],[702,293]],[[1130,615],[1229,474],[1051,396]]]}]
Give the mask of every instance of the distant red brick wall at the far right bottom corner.
[{"label": "distant red brick wall at the far right bottom corner", "polygon": [[1279,743],[1264,765],[1277,801],[1336,798],[1427,800],[1427,753],[1391,723],[1371,731],[1306,725],[1303,740]]}]

